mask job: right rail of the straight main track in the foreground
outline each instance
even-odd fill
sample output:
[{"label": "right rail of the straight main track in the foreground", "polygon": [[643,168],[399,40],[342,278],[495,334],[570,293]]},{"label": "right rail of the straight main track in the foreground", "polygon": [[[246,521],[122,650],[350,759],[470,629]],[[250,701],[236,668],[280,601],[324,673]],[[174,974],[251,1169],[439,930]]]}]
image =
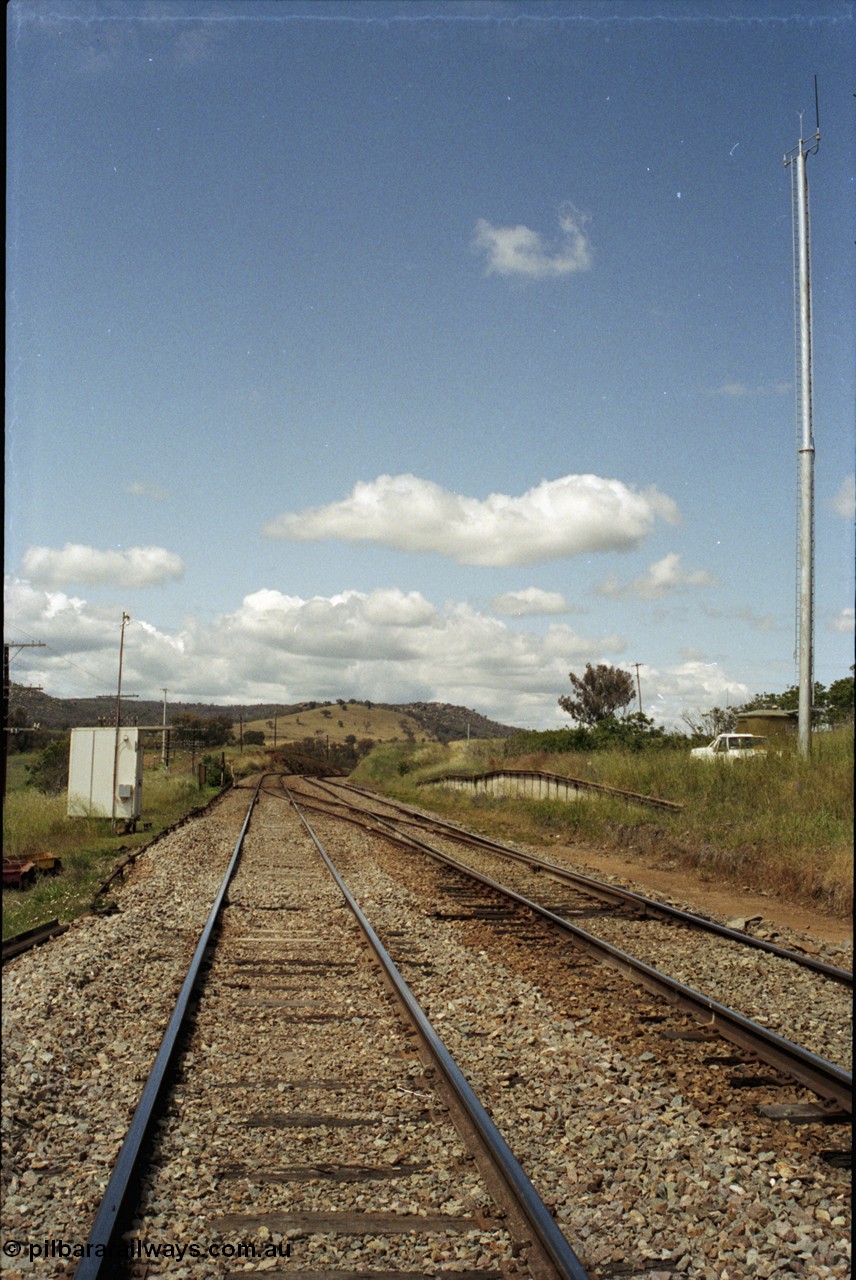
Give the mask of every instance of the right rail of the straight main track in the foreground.
[{"label": "right rail of the straight main track in the foreground", "polygon": [[503,1135],[496,1129],[496,1125],[490,1119],[484,1106],[479,1101],[476,1093],[470,1085],[468,1080],[463,1075],[461,1068],[457,1065],[448,1048],[439,1038],[431,1023],[426,1018],[421,1006],[413,997],[409,987],[402,978],[400,973],[393,964],[393,960],[384,947],[383,942],[375,933],[374,928],[366,919],[360,904],[351,893],[348,886],[342,879],[342,876],[330,860],[326,850],[324,849],[321,841],[316,836],[315,831],[310,826],[306,815],[301,812],[294,796],[289,788],[283,783],[283,790],[288,795],[294,812],[303,823],[310,838],[315,844],[319,854],[324,859],[324,863],[330,872],[333,879],[338,884],[345,902],[348,904],[351,911],[353,913],[360,928],[362,929],[366,940],[371,945],[377,960],[380,961],[386,978],[392,983],[395,995],[407,1010],[407,1015],[417,1029],[422,1043],[429,1050],[432,1060],[436,1062],[443,1076],[452,1087],[458,1102],[463,1107],[464,1112],[470,1117],[470,1121],[475,1126],[479,1137],[481,1138],[485,1147],[489,1149],[495,1167],[503,1178],[509,1196],[513,1202],[519,1207],[528,1224],[532,1233],[535,1244],[540,1245],[540,1249],[549,1258],[555,1274],[567,1280],[589,1280],[589,1272],[585,1266],[573,1252],[564,1235],[557,1226],[555,1221],[550,1216],[546,1206],[541,1201],[540,1196],[532,1187],[527,1175],[523,1172],[517,1157],[512,1152],[511,1147],[503,1138]]}]

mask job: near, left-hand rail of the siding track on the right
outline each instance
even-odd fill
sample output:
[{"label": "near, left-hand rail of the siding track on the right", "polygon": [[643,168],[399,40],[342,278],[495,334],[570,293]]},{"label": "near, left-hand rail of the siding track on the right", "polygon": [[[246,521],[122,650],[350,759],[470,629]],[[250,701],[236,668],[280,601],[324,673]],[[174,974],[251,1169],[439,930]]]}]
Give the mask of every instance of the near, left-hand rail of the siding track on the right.
[{"label": "near, left-hand rail of the siding track on the right", "polygon": [[[383,819],[376,820],[383,822]],[[768,1030],[759,1023],[752,1021],[751,1018],[745,1018],[727,1005],[720,1005],[719,1001],[713,1000],[710,996],[694,991],[692,987],[685,986],[685,983],[678,982],[676,978],[669,978],[668,974],[660,973],[659,969],[654,969],[626,951],[621,951],[610,942],[604,942],[603,938],[596,938],[586,929],[581,929],[578,924],[573,924],[571,920],[566,920],[539,902],[534,902],[522,893],[507,888],[499,881],[491,879],[490,876],[476,872],[472,867],[457,861],[449,854],[434,849],[426,841],[417,840],[415,836],[407,838],[438,861],[454,868],[454,870],[461,872],[463,876],[479,881],[486,888],[502,893],[504,897],[549,920],[550,924],[558,925],[563,932],[571,933],[575,941],[598,960],[603,960],[612,968],[619,969],[647,991],[658,996],[664,996],[672,1004],[686,1009],[733,1044],[749,1050],[757,1059],[791,1076],[812,1093],[816,1093],[821,1098],[829,1098],[842,1111],[852,1114],[853,1078],[851,1071],[844,1071],[843,1068],[836,1066],[834,1062],[828,1062],[816,1053],[809,1052],[801,1044],[795,1044],[783,1036]]]}]

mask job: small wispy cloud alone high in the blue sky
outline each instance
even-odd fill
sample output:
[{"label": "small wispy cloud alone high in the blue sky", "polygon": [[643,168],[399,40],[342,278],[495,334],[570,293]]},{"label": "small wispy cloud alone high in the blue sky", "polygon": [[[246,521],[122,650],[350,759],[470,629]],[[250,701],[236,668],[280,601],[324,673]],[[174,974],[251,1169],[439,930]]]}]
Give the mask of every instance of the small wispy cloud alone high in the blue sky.
[{"label": "small wispy cloud alone high in the blue sky", "polygon": [[485,253],[487,275],[517,275],[528,280],[572,275],[591,266],[591,243],[585,232],[589,215],[573,205],[559,211],[559,239],[545,244],[528,227],[494,227],[485,218],[476,223],[472,246]]}]

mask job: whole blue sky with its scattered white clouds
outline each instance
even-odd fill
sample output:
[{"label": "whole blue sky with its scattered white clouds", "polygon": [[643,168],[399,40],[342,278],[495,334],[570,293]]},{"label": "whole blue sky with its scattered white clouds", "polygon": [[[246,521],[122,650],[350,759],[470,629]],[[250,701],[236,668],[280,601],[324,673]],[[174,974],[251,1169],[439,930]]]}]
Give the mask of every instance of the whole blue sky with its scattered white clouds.
[{"label": "whole blue sky with its scattered white clouds", "polygon": [[13,678],[658,722],[852,662],[853,6],[13,3]]}]

